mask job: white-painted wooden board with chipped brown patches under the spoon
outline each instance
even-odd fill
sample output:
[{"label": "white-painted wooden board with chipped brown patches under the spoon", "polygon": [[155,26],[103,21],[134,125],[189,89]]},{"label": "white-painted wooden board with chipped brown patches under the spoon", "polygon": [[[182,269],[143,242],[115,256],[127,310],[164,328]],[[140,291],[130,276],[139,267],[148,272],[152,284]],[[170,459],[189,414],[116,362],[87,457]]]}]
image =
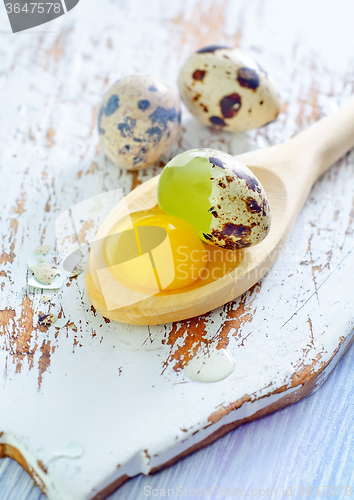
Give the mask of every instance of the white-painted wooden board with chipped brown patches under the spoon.
[{"label": "white-painted wooden board with chipped brown patches under the spoon", "polygon": [[[239,402],[240,418],[246,418],[254,413],[253,402],[271,392],[269,381],[273,392],[280,388],[296,392],[349,345],[352,155],[316,184],[279,262],[266,278],[213,315],[150,331],[124,327],[118,335],[116,324],[105,323],[91,309],[83,276],[68,279],[53,304],[44,305],[40,293],[27,287],[26,261],[39,243],[51,244],[55,258],[55,219],[70,206],[112,189],[127,193],[161,171],[163,164],[138,174],[121,172],[99,150],[97,106],[115,79],[145,71],[176,88],[178,68],[192,50],[211,42],[239,46],[277,81],[283,113],[260,130],[230,135],[207,130],[184,112],[183,131],[173,153],[210,146],[240,154],[277,144],[352,94],[353,61],[347,39],[353,10],[348,1],[322,8],[319,1],[310,5],[304,1],[285,5],[280,0],[168,5],[155,1],[147,6],[141,1],[107,0],[98,5],[86,0],[48,24],[48,32],[18,35],[4,33],[8,24],[1,17],[0,361],[2,406],[9,410],[0,416],[4,432],[0,442],[26,455],[32,474],[37,474],[50,498],[90,495],[93,488],[109,484],[117,466],[139,450],[147,451],[141,467],[133,469],[148,472],[156,462],[154,454],[159,456],[173,441],[183,443],[196,430],[201,432],[208,417],[215,424],[220,417],[232,417],[232,406]],[[328,36],[329,30],[337,36]],[[91,240],[96,222],[82,221],[83,241]],[[334,271],[340,270],[346,256],[346,273],[338,283]],[[68,327],[57,332],[39,326],[38,315],[46,312],[68,317]],[[229,345],[247,380],[240,383],[236,373],[221,389],[188,383],[181,368],[198,346],[213,342]],[[124,358],[122,371],[115,352]],[[132,363],[137,355],[138,365]],[[151,389],[144,399],[143,384],[144,378],[149,379],[147,373],[152,374],[150,383],[155,380],[157,360],[162,366],[157,380],[159,397],[163,396],[157,402],[160,412],[150,407],[156,397]],[[257,366],[256,376],[250,360]],[[333,363],[328,367],[325,374]],[[119,388],[131,401],[124,392],[127,381],[134,381],[131,388],[139,406],[130,412],[125,407],[122,411],[116,397]],[[89,397],[88,387],[100,390]],[[242,400],[245,394],[248,401]],[[174,420],[171,398],[179,398],[187,408],[188,401],[198,404]],[[101,411],[94,413],[97,408]],[[124,412],[125,419],[120,419]],[[125,425],[123,437],[117,432],[117,419]],[[93,421],[99,421],[99,431],[92,427]],[[125,439],[131,436],[135,441],[129,448]],[[53,454],[71,439],[84,443],[83,456],[53,461]]]}]

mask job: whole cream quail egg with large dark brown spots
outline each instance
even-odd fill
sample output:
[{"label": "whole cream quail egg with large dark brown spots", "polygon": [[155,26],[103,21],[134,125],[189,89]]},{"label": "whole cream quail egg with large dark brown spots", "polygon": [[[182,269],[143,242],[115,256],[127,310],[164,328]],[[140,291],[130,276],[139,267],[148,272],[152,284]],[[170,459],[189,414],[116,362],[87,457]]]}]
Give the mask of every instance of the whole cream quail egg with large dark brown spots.
[{"label": "whole cream quail egg with large dark brown spots", "polygon": [[238,49],[210,46],[192,54],[182,66],[178,87],[189,111],[216,129],[261,127],[280,112],[275,84]]}]

